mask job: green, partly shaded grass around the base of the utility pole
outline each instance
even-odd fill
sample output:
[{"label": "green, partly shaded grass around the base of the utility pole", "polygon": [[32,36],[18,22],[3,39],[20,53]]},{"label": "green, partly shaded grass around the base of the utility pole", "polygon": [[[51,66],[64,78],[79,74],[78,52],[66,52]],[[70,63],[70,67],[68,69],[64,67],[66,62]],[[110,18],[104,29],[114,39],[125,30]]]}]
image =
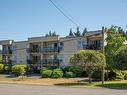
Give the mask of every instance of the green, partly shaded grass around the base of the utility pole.
[{"label": "green, partly shaded grass around the base of the utility pole", "polygon": [[74,82],[74,83],[61,83],[56,84],[61,86],[88,86],[88,87],[104,87],[111,89],[127,89],[127,81],[106,81],[104,85],[101,82]]}]

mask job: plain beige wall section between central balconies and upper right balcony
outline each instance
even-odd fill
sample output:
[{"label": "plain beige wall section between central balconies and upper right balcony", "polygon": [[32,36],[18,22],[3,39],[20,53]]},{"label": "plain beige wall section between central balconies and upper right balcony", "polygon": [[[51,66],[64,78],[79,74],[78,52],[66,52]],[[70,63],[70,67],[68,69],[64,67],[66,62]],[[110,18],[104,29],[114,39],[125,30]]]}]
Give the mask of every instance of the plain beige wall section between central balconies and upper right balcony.
[{"label": "plain beige wall section between central balconies and upper right balcony", "polygon": [[[79,41],[81,44],[79,45]],[[60,42],[63,42],[64,47],[63,50],[59,53],[59,58],[62,59],[62,62],[60,64],[61,67],[71,65],[70,64],[70,57],[77,52],[78,50],[83,49],[83,43],[86,44],[85,38],[65,38],[65,40],[60,40]]]}]

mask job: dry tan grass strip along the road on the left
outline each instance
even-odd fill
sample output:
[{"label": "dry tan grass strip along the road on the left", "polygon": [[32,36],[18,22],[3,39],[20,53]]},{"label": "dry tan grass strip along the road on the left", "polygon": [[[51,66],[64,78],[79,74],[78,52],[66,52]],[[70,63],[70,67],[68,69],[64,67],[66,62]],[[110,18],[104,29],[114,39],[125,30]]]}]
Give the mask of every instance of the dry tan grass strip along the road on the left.
[{"label": "dry tan grass strip along the road on the left", "polygon": [[0,83],[24,83],[24,84],[40,84],[40,85],[54,85],[60,83],[71,83],[76,82],[77,79],[73,78],[61,78],[61,79],[50,79],[50,78],[39,78],[39,77],[0,77]]}]

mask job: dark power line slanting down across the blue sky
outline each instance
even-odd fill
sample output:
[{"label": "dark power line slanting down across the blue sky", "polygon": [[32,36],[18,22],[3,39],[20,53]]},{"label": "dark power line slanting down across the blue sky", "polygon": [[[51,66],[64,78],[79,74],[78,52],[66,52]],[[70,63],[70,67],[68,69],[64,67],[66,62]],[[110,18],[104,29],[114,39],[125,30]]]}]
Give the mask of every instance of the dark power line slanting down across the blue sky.
[{"label": "dark power line slanting down across the blue sky", "polygon": [[[69,21],[71,21],[74,25],[79,26],[79,24],[76,23],[76,22],[72,19],[72,16],[71,16],[71,17],[67,16],[67,15],[63,12],[63,10],[60,9],[52,0],[49,0],[49,1],[51,2],[51,4],[52,4],[63,16],[65,16],[65,17],[66,17]],[[82,27],[81,27],[81,28],[82,28]]]}]

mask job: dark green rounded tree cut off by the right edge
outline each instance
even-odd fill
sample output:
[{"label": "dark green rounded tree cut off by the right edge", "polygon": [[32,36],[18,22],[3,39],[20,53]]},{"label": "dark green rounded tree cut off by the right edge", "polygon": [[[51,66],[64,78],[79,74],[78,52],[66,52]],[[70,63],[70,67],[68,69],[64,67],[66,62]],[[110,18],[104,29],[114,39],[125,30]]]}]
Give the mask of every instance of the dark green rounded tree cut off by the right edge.
[{"label": "dark green rounded tree cut off by the right edge", "polygon": [[119,70],[127,70],[127,47],[121,47],[114,56],[113,66]]}]

